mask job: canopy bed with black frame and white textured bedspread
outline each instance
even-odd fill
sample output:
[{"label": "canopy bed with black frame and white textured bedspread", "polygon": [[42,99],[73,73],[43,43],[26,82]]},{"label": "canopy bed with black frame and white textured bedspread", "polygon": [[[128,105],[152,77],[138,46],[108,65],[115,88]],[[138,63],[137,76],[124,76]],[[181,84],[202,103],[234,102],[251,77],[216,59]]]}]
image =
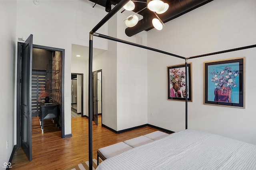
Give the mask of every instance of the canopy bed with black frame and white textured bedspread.
[{"label": "canopy bed with black frame and white textured bedspread", "polygon": [[[88,119],[89,119],[89,169],[92,170],[92,51],[93,36],[140,47],[165,55],[184,59],[185,68],[188,59],[195,59],[210,55],[229,53],[243,49],[254,48],[256,45],[238,47],[224,51],[206,53],[192,57],[182,57],[159,49],[146,47],[117,39],[100,33],[96,33],[104,23],[116,14],[129,0],[121,0],[91,31],[89,36],[89,60],[88,60]],[[185,69],[186,70],[186,69]],[[185,84],[188,73],[185,71]],[[186,91],[187,93],[187,91]],[[114,157],[104,160],[97,170],[120,170],[120,169],[254,169],[256,170],[256,145],[243,143],[233,139],[211,135],[204,132],[188,129],[188,98],[185,95],[185,129],[173,133],[170,137],[148,143],[146,145],[125,151]]]}]

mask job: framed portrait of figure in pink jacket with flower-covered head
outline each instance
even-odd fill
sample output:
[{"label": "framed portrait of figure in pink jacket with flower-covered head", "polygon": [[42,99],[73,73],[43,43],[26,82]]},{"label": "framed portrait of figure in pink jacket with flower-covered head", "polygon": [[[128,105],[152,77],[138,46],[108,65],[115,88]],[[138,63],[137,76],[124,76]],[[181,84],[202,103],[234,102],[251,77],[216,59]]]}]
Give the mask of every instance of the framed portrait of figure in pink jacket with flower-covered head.
[{"label": "framed portrait of figure in pink jacket with flower-covered head", "polygon": [[[188,63],[188,101],[192,102],[192,81],[191,70],[192,63]],[[185,64],[167,66],[167,100],[186,100],[186,84],[185,84]]]}]

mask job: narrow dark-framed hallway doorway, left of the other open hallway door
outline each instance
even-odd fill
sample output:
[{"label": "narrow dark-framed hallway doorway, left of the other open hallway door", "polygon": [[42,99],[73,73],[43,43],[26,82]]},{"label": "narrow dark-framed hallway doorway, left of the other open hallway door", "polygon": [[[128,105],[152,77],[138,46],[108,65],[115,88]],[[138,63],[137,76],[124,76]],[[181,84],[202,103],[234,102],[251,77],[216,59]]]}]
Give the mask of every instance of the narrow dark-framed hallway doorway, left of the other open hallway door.
[{"label": "narrow dark-framed hallway doorway, left of the other open hallway door", "polygon": [[83,116],[83,74],[71,73],[71,117]]}]

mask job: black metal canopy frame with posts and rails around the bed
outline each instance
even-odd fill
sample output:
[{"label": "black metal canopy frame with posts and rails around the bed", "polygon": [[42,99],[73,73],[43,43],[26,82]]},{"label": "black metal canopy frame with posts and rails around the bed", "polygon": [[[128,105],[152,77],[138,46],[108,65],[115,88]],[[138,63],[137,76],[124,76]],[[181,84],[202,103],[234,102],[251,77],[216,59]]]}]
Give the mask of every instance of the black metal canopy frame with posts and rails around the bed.
[{"label": "black metal canopy frame with posts and rails around the bed", "polygon": [[[243,49],[249,49],[249,48],[254,48],[256,47],[256,45],[249,45],[249,46],[245,46],[245,47],[239,47],[239,48],[235,48],[235,49],[228,49],[228,50],[224,50],[224,51],[218,51],[218,52],[214,52],[214,53],[207,53],[207,54],[202,54],[202,55],[197,55],[197,56],[192,56],[192,57],[182,57],[179,55],[175,55],[172,53],[168,53],[166,51],[161,51],[158,49],[154,49],[151,47],[146,47],[143,45],[139,45],[136,43],[132,43],[129,41],[125,41],[122,39],[117,39],[114,37],[110,37],[107,35],[102,35],[100,33],[96,33],[96,31],[102,26],[104,25],[104,23],[106,23],[110,18],[112,18],[112,16],[114,16],[114,14],[116,14],[129,0],[122,0],[120,1],[93,29],[92,31],[90,31],[90,36],[89,36],[89,72],[88,72],[88,119],[89,119],[89,170],[92,170],[92,49],[93,49],[93,36],[97,36],[97,37],[101,37],[104,39],[108,39],[108,40],[112,40],[112,41],[116,41],[116,42],[120,42],[120,43],[125,43],[128,45],[133,45],[136,47],[140,47],[143,49],[148,49],[151,51],[155,51],[158,53],[162,53],[162,54],[166,54],[166,55],[170,55],[170,56],[174,56],[174,57],[178,57],[180,59],[184,59],[185,60],[185,68],[187,68],[187,64],[188,64],[188,59],[195,59],[195,58],[199,58],[199,57],[205,57],[205,56],[210,56],[210,55],[216,55],[216,54],[221,54],[221,53],[228,53],[228,52],[232,52],[232,51],[238,51],[238,50],[243,50]],[[186,83],[186,89],[187,88],[187,69],[185,69],[185,83]],[[185,114],[186,114],[186,122],[185,122],[185,129],[188,129],[188,96],[187,96],[187,91],[186,91],[186,98],[185,98]]]}]

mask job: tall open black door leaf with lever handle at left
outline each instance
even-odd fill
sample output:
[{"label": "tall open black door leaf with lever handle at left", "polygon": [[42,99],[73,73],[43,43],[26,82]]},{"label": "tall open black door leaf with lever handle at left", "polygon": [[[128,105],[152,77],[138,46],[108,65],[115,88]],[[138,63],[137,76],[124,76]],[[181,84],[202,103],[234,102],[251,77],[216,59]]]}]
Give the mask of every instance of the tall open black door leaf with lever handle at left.
[{"label": "tall open black door leaf with lever handle at left", "polygon": [[32,48],[33,35],[22,45],[22,69],[21,69],[21,147],[32,160]]}]

